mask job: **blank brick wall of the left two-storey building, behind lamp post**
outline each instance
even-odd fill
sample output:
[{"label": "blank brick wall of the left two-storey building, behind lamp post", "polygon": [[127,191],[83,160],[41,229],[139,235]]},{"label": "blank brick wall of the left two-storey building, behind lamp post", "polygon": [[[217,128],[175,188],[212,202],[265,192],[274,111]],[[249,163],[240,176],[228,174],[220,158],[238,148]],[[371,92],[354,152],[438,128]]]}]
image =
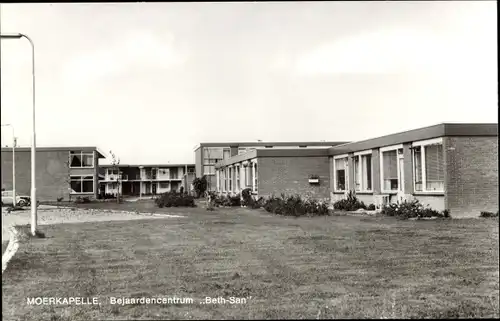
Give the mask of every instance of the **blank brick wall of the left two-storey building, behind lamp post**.
[{"label": "blank brick wall of the left two-storey building, behind lamp post", "polygon": [[[68,151],[38,151],[36,188],[39,201],[69,199]],[[2,188],[12,190],[12,152],[2,151]],[[16,151],[16,192],[31,195],[31,152]]]}]

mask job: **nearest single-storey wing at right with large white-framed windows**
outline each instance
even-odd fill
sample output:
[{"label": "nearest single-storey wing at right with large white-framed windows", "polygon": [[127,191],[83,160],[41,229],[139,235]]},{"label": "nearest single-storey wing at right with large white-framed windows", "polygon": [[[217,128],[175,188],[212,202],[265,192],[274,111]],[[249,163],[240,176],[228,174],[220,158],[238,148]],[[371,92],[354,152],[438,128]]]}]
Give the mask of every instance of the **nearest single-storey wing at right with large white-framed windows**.
[{"label": "nearest single-storey wing at right with large white-framed windows", "polygon": [[439,124],[332,147],[331,198],[419,200],[454,217],[498,210],[498,124]]}]

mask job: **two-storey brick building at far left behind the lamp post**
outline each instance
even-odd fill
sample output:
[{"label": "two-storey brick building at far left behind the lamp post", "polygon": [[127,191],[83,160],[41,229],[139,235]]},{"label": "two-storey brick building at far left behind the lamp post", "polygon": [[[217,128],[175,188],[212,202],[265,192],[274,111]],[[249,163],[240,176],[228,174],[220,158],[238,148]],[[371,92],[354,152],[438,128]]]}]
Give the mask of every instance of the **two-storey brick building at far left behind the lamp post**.
[{"label": "two-storey brick building at far left behind the lamp post", "polygon": [[[96,147],[37,147],[36,188],[39,201],[96,198],[99,159]],[[2,189],[12,190],[12,148],[2,148]],[[31,148],[15,149],[16,193],[31,194]]]}]

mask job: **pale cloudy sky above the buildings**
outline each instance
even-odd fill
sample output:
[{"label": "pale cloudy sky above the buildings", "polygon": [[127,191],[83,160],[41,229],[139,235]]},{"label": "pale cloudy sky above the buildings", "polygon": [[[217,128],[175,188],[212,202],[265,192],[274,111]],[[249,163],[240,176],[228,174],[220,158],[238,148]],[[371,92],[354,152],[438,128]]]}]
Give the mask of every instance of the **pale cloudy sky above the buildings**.
[{"label": "pale cloudy sky above the buildings", "polygon": [[[496,12],[496,1],[21,3],[0,5],[0,32],[35,44],[37,146],[194,163],[201,142],[497,123]],[[30,45],[0,45],[1,122],[30,146]]]}]

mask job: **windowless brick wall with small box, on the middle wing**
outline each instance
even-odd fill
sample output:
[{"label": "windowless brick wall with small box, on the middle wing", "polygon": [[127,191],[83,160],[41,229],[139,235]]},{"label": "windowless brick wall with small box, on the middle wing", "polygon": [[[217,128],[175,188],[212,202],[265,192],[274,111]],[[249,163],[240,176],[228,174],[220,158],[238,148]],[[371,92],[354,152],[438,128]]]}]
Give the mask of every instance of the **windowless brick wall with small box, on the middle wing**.
[{"label": "windowless brick wall with small box, on the middle wing", "polygon": [[[300,194],[317,199],[330,197],[330,161],[325,157],[258,158],[259,196]],[[309,176],[318,175],[319,184],[309,184]]]}]

